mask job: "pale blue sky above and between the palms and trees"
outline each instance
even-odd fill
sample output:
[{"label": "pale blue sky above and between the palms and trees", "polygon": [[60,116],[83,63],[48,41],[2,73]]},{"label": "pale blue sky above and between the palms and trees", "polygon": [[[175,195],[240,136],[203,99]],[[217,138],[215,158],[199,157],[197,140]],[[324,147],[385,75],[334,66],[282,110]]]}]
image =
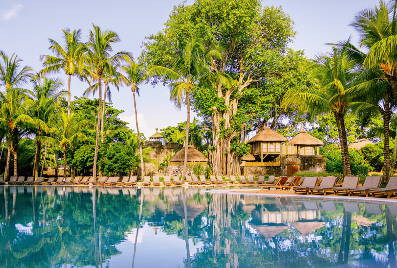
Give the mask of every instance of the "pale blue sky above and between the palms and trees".
[{"label": "pale blue sky above and between the palms and trees", "polygon": [[[7,54],[17,53],[26,65],[36,71],[42,68],[40,54],[50,54],[48,39],[62,42],[62,29],[81,28],[83,41],[87,41],[92,23],[102,29],[116,31],[122,42],[115,45],[114,51],[128,50],[134,57],[141,53],[145,37],[163,29],[174,5],[180,0],[2,0],[0,5],[0,49]],[[187,3],[193,3],[188,0]],[[292,49],[304,49],[308,58],[318,52],[326,51],[324,44],[345,40],[357,33],[348,26],[354,14],[364,7],[373,6],[377,0],[266,0],[263,5],[282,6],[295,22],[298,32]],[[67,77],[58,75],[67,85]],[[81,96],[88,87],[72,78],[72,96]],[[120,92],[112,89],[113,105],[124,110],[124,121],[135,125],[135,112],[132,93],[127,88]],[[146,137],[155,128],[165,128],[186,121],[186,109],[176,110],[169,101],[167,88],[158,85],[141,87],[137,98],[139,128]]]}]

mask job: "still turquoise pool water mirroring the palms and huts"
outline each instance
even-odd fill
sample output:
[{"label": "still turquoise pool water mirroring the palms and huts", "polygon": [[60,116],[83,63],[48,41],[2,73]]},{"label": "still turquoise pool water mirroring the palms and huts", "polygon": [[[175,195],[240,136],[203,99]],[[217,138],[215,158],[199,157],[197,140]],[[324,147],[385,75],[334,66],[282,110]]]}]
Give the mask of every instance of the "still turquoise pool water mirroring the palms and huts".
[{"label": "still turquoise pool water mirroring the palms and huts", "polygon": [[394,203],[205,191],[2,187],[0,267],[396,267]]}]

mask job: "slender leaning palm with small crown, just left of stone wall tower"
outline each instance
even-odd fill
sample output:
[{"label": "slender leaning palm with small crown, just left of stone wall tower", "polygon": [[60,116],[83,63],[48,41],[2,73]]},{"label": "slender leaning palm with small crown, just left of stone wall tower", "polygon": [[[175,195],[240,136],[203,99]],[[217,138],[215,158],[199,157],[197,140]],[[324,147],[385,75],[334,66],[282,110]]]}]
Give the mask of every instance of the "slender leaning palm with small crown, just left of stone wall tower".
[{"label": "slender leaning palm with small crown, just left of stone wall tower", "polygon": [[126,86],[131,87],[132,96],[134,97],[134,108],[135,108],[135,123],[136,123],[136,132],[139,141],[139,151],[141,156],[141,178],[145,175],[145,167],[142,155],[142,142],[141,136],[139,133],[138,127],[138,113],[136,111],[136,100],[135,100],[135,92],[139,96],[139,85],[142,84],[147,78],[145,70],[136,62],[130,60],[126,65],[122,66],[121,69],[124,71],[125,75],[121,75],[121,79],[125,83]]}]

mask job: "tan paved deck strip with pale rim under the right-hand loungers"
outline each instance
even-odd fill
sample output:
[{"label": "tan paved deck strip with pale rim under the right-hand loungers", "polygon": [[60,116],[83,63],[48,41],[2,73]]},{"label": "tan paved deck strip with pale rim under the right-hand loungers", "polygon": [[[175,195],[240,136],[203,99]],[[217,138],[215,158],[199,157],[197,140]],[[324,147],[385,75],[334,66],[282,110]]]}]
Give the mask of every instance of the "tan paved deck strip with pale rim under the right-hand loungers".
[{"label": "tan paved deck strip with pale rim under the right-hand loungers", "polygon": [[347,196],[347,195],[295,195],[294,191],[290,190],[209,190],[206,193],[211,194],[231,194],[231,195],[256,195],[269,197],[296,197],[296,198],[317,198],[317,199],[333,199],[333,200],[349,200],[349,201],[364,201],[376,203],[397,203],[397,195],[391,198],[386,197],[365,197],[365,196]]}]

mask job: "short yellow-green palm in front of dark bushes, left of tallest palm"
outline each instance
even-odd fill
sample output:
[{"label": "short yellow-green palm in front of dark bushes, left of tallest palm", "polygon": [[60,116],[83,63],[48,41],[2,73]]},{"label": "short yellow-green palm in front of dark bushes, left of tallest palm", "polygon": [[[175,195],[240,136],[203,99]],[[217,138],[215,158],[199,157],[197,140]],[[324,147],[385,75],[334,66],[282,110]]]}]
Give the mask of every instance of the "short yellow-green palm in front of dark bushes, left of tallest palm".
[{"label": "short yellow-green palm in front of dark bushes, left of tallest palm", "polygon": [[69,116],[65,113],[59,114],[59,120],[53,121],[54,127],[50,129],[52,137],[37,136],[36,139],[39,142],[49,142],[57,144],[62,148],[63,151],[63,171],[66,176],[66,149],[75,143],[86,139],[87,137],[80,131],[87,124],[87,121],[78,121],[74,113]]}]

